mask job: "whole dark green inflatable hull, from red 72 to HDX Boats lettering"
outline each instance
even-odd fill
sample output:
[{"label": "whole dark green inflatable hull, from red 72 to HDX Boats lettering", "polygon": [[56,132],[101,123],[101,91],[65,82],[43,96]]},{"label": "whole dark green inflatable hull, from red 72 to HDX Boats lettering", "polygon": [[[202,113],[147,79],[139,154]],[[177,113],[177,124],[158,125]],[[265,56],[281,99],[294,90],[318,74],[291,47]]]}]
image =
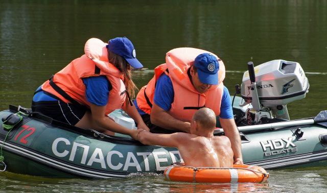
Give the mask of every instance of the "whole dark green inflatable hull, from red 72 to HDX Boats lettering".
[{"label": "whole dark green inflatable hull, from red 72 to HDX Boats lettering", "polygon": [[[0,117],[12,113],[16,113],[14,108],[0,112]],[[168,165],[181,161],[176,148],[145,146],[123,136],[101,137],[41,115],[23,117],[9,134],[0,128],[0,146],[9,172],[58,178],[121,178],[130,173],[162,173]],[[327,165],[327,146],[319,138],[327,134],[327,128],[301,126],[301,137],[295,133],[298,128],[244,133],[245,164],[266,169]]]}]

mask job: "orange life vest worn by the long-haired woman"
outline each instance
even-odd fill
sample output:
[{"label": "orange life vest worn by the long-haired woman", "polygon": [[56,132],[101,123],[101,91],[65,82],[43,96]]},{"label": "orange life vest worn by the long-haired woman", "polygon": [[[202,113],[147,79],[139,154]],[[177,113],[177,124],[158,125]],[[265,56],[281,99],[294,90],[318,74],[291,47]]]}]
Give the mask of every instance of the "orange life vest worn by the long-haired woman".
[{"label": "orange life vest worn by the long-haired woman", "polygon": [[73,60],[52,77],[55,86],[57,85],[68,96],[65,97],[64,93],[58,93],[49,80],[42,84],[42,90],[54,94],[65,103],[73,103],[75,100],[89,108],[89,102],[85,96],[86,88],[82,78],[104,75],[112,86],[109,92],[106,114],[122,108],[126,98],[124,77],[118,68],[109,63],[106,43],[100,39],[91,38],[85,43],[84,52],[83,56]]}]

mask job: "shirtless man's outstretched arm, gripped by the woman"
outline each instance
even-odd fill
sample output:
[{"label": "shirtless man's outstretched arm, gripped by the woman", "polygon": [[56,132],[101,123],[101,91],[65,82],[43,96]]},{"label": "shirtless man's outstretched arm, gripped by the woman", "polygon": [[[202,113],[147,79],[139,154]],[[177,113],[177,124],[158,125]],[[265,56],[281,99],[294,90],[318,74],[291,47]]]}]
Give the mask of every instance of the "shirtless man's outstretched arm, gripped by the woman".
[{"label": "shirtless man's outstretched arm, gripped by the woman", "polygon": [[179,147],[180,142],[187,142],[188,136],[191,134],[188,133],[172,133],[172,134],[159,134],[159,133],[150,133],[148,131],[141,131],[137,134],[137,140],[143,144],[148,144],[152,146],[163,146],[163,147]]}]

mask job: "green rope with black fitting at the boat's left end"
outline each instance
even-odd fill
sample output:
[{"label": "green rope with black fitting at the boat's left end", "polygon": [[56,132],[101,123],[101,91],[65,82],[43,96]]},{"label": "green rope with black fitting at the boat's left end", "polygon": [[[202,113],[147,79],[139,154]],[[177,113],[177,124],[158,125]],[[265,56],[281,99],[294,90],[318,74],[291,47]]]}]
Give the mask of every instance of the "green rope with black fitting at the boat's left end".
[{"label": "green rope with black fitting at the boat's left end", "polygon": [[22,112],[17,112],[15,114],[11,114],[9,116],[6,117],[6,119],[3,119],[3,124],[2,124],[2,127],[4,128],[4,130],[8,131],[7,132],[7,135],[4,139],[4,142],[2,143],[1,145],[1,149],[0,149],[0,167],[3,167],[3,169],[0,168],[0,172],[4,172],[6,171],[6,163],[4,162],[5,160],[5,157],[3,156],[3,152],[2,152],[2,149],[5,145],[5,141],[7,140],[7,137],[10,133],[10,131],[17,125],[19,124],[21,121],[22,121],[22,116],[20,115],[21,114],[25,114],[25,113],[22,113]]}]

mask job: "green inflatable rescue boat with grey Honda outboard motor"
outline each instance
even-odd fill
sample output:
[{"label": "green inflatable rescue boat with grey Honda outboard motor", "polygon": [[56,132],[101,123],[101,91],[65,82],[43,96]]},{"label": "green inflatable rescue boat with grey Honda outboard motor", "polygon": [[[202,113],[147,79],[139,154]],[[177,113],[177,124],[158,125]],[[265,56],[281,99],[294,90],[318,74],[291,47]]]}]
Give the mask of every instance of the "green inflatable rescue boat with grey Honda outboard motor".
[{"label": "green inflatable rescue boat with grey Honda outboard motor", "polygon": [[[327,111],[297,120],[290,120],[287,111],[288,103],[305,98],[309,90],[301,66],[273,60],[248,67],[241,88],[236,86],[241,96],[232,97],[244,163],[265,169],[327,165]],[[135,129],[124,111],[109,116]],[[15,106],[0,112],[0,148],[0,171],[43,177],[121,178],[162,173],[183,162],[176,148],[82,130]]]}]

